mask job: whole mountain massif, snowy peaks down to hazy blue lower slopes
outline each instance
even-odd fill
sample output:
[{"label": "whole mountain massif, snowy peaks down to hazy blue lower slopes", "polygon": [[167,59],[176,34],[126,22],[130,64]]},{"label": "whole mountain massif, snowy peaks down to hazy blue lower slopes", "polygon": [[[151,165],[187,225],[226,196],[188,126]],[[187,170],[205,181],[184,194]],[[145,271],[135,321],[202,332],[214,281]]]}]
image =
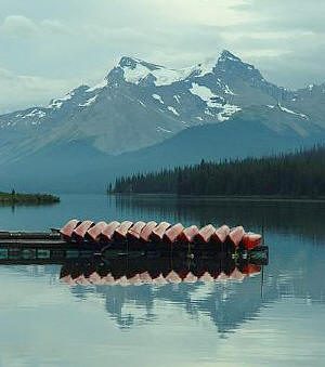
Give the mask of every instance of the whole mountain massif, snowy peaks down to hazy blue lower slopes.
[{"label": "whole mountain massif, snowy peaks down to hazy blue lower slopes", "polygon": [[324,102],[325,83],[276,87],[229,51],[179,70],[122,57],[96,86],[0,116],[2,185],[102,191],[133,170],[308,146]]}]

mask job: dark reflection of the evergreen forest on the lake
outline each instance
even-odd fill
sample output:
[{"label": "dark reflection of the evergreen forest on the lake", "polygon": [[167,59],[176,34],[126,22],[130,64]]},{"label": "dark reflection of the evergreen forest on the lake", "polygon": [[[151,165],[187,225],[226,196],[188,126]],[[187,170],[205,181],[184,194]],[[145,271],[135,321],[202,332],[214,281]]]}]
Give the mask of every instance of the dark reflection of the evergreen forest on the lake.
[{"label": "dark reflection of the evergreen forest on the lake", "polygon": [[173,222],[205,225],[244,225],[249,231],[296,233],[315,244],[325,238],[324,201],[244,201],[211,197],[115,196],[121,215],[165,218]]}]

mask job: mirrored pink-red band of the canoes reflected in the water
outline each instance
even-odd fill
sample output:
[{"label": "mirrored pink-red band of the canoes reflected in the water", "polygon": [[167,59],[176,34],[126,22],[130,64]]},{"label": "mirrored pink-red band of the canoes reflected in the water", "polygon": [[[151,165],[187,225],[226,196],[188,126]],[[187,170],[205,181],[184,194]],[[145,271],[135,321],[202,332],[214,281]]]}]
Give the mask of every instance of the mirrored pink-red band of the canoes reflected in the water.
[{"label": "mirrored pink-red band of the canoes reflected in the water", "polygon": [[237,280],[242,281],[246,276],[255,276],[261,272],[260,265],[247,264],[242,268],[235,267],[231,272],[216,272],[208,271],[196,274],[193,271],[174,271],[171,270],[164,274],[162,272],[141,272],[136,274],[120,275],[109,272],[105,275],[92,272],[91,274],[74,274],[73,272],[62,271],[61,280],[69,285],[119,285],[119,286],[141,286],[145,284],[167,285],[180,283],[197,283],[197,281],[227,281]]}]

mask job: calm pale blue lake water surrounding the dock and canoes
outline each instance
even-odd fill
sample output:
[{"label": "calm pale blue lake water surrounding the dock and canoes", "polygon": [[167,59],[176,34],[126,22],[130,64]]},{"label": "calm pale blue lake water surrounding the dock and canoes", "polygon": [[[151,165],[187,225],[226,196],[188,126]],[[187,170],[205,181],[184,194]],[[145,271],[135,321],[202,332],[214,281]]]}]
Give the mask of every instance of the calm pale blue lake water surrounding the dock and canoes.
[{"label": "calm pale blue lake water surrounding the dock and canoes", "polygon": [[67,285],[62,265],[0,265],[0,366],[325,366],[325,204],[62,196],[0,207],[3,230],[72,218],[243,224],[270,247],[242,281]]}]

